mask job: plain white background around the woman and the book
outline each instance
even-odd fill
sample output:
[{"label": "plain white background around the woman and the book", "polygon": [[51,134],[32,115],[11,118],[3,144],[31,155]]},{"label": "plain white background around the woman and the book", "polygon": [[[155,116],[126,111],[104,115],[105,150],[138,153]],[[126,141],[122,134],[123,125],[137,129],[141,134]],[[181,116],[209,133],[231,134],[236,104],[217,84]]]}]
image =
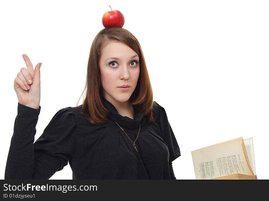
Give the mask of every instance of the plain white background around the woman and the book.
[{"label": "plain white background around the woman and the book", "polygon": [[[268,1],[1,1],[1,164],[13,135],[13,84],[22,54],[41,66],[35,140],[61,108],[76,106],[106,11],[120,10],[138,39],[153,87],[179,143],[177,179],[195,179],[191,151],[253,137],[258,179],[268,176]],[[79,102],[79,105],[82,101]],[[51,179],[72,179],[69,164]]]}]

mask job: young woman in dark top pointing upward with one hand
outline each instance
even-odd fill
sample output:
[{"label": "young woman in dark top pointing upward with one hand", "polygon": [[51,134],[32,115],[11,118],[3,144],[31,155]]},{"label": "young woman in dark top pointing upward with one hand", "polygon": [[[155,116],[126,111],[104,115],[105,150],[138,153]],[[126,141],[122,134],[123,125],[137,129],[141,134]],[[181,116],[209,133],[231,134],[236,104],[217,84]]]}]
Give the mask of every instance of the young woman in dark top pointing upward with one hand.
[{"label": "young woman in dark top pointing upward with one hand", "polygon": [[104,28],[96,35],[83,104],[59,110],[35,143],[41,63],[34,69],[23,58],[5,179],[49,179],[68,162],[73,179],[176,179],[179,145],[164,108],[153,102],[142,49],[129,31]]}]

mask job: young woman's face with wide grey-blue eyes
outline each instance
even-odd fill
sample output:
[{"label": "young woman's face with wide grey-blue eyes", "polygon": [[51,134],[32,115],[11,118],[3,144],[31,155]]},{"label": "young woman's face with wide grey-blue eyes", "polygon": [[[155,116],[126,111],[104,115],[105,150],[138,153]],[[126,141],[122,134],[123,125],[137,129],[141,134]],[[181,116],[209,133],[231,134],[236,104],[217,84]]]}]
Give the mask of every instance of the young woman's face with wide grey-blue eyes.
[{"label": "young woman's face with wide grey-blue eyes", "polygon": [[[139,57],[121,42],[109,41],[99,61],[103,95],[111,103],[126,102],[135,90],[140,72]],[[129,85],[128,88],[120,88]]]}]

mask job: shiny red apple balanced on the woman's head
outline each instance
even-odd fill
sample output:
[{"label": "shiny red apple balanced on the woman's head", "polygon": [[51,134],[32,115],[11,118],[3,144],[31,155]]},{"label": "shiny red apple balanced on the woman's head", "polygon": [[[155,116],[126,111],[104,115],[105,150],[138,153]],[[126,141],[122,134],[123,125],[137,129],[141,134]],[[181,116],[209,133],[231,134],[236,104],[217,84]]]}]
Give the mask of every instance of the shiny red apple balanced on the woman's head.
[{"label": "shiny red apple balanced on the woman's head", "polygon": [[[110,7],[110,9],[111,9],[111,7]],[[105,28],[123,27],[124,16],[120,11],[111,9],[111,11],[104,13],[104,15],[102,17],[102,23],[103,23]]]}]

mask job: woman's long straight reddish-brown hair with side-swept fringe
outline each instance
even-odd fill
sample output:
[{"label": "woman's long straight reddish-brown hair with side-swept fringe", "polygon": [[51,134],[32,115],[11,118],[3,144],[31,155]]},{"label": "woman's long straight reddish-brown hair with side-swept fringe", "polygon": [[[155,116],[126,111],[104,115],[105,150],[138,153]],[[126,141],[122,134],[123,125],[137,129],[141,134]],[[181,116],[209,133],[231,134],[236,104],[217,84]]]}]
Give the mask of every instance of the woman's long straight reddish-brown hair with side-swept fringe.
[{"label": "woman's long straight reddish-brown hair with side-swept fringe", "polygon": [[153,91],[149,80],[149,74],[146,68],[145,58],[138,40],[127,29],[112,27],[102,29],[94,38],[90,48],[90,56],[87,67],[86,85],[81,94],[86,91],[86,96],[83,100],[82,111],[76,107],[83,116],[92,124],[107,123],[106,115],[108,110],[103,105],[100,96],[102,97],[101,72],[99,69],[99,59],[101,50],[109,41],[122,42],[134,50],[139,56],[140,73],[138,82],[134,92],[130,97],[133,105],[138,106],[140,112],[144,113],[147,118],[147,123],[154,121],[153,115]]}]

